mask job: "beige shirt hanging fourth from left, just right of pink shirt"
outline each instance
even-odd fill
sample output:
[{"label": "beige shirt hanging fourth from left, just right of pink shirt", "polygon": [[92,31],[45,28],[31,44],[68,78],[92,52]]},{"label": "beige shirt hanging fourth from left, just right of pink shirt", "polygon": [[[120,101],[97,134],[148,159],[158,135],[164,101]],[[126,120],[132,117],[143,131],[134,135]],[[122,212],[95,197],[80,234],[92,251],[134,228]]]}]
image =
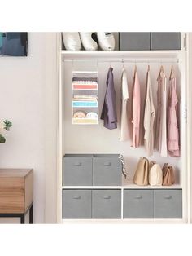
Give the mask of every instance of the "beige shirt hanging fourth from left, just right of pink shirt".
[{"label": "beige shirt hanging fourth from left, just right of pink shirt", "polygon": [[146,74],[146,104],[144,113],[144,142],[147,156],[153,154],[154,149],[154,121],[155,121],[155,107],[153,104],[153,95],[151,87],[150,72]]}]

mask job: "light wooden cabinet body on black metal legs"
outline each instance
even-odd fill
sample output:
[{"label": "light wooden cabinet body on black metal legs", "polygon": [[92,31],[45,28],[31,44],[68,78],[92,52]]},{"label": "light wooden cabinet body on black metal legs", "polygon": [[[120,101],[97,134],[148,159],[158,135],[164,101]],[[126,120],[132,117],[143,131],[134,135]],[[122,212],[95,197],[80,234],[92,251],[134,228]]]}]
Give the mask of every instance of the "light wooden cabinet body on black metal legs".
[{"label": "light wooden cabinet body on black metal legs", "polygon": [[0,169],[0,217],[23,218],[32,205],[33,170]]}]

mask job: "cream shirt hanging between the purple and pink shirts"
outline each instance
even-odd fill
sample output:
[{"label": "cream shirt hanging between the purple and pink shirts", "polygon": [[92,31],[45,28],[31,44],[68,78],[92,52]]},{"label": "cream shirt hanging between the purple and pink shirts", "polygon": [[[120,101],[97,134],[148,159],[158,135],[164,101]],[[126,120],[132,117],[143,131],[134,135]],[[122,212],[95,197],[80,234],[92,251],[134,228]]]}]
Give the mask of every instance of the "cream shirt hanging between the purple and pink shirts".
[{"label": "cream shirt hanging between the purple and pink shirts", "polygon": [[120,141],[129,139],[128,132],[128,81],[126,71],[123,69],[121,76],[121,113],[120,113]]}]

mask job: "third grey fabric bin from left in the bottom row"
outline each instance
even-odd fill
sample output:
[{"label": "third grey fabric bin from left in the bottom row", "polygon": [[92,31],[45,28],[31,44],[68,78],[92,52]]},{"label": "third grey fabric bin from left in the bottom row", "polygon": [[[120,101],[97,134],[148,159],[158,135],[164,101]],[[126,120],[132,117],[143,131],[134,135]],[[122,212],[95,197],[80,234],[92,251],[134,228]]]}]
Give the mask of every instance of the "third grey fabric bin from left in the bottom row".
[{"label": "third grey fabric bin from left in the bottom row", "polygon": [[124,218],[153,218],[153,191],[124,190]]}]

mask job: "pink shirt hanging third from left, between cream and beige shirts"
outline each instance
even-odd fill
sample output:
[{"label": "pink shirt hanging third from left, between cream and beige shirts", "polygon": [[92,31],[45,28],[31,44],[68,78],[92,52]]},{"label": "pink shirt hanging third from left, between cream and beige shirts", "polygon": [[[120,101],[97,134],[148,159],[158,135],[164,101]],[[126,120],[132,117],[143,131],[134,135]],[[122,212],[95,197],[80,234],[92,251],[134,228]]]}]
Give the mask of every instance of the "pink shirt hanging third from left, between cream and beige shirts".
[{"label": "pink shirt hanging third from left, between cream and beige shirts", "polygon": [[140,84],[137,77],[137,71],[134,74],[133,80],[133,148],[139,146],[139,126],[140,126],[140,108],[141,108],[141,95]]}]

